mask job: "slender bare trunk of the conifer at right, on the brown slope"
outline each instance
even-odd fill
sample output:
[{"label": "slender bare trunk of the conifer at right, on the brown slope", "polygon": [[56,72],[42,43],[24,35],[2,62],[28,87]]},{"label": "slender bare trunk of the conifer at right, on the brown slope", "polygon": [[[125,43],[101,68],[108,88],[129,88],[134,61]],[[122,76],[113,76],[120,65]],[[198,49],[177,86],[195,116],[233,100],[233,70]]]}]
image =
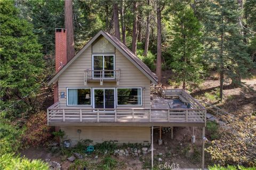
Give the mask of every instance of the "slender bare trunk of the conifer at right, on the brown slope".
[{"label": "slender bare trunk of the conifer at right, on the brown slope", "polygon": [[223,16],[221,16],[221,40],[220,40],[220,102],[222,102],[223,98],[223,81],[224,81],[224,64],[223,64]]}]

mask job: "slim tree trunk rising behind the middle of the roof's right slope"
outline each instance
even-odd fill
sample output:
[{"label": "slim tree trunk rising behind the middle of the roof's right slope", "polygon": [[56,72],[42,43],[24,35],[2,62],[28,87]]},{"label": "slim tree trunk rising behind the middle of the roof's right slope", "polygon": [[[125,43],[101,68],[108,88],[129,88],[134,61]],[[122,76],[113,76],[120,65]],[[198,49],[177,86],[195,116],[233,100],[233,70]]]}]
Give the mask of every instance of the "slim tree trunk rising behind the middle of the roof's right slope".
[{"label": "slim tree trunk rising behind the middle of the roof's right slope", "polygon": [[132,30],[132,52],[136,55],[137,51],[137,20],[138,20],[138,14],[137,14],[137,1],[133,2],[133,13],[134,13],[134,19],[133,19],[133,30]]}]

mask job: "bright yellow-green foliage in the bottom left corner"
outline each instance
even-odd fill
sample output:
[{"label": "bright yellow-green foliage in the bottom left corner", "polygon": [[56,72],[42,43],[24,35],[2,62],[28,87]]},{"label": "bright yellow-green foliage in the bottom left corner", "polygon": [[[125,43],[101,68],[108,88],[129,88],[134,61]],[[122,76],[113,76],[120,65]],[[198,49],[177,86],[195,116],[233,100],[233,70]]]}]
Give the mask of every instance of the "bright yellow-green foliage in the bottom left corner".
[{"label": "bright yellow-green foliage in the bottom left corner", "polygon": [[34,159],[30,161],[27,158],[14,156],[14,154],[3,154],[0,157],[0,169],[15,169],[15,170],[47,170],[49,166],[41,160]]}]

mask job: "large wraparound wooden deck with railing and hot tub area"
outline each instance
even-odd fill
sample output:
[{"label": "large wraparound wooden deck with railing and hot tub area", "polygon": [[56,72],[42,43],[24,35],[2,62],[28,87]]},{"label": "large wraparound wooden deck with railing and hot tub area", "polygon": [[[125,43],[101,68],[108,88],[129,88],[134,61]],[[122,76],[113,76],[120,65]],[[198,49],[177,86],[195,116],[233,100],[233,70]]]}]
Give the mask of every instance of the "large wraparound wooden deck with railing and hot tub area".
[{"label": "large wraparound wooden deck with railing and hot tub area", "polygon": [[[155,92],[153,92],[155,91]],[[47,109],[48,125],[123,125],[123,126],[205,126],[206,110],[182,89],[152,90],[150,108],[82,108]],[[165,95],[164,97],[161,95]],[[174,103],[174,101],[178,101]]]}]

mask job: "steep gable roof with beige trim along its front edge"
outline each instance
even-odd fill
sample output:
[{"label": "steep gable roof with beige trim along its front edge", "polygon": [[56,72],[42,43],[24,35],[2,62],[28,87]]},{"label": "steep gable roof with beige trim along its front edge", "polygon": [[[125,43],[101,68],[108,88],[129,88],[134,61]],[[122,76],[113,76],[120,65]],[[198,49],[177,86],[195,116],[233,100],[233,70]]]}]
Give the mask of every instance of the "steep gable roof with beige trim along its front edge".
[{"label": "steep gable roof with beige trim along its front edge", "polygon": [[120,40],[101,30],[97,33],[97,35],[91,38],[91,40],[88,41],[88,43],[81,50],[79,50],[78,53],[65,66],[63,66],[61,70],[59,70],[59,72],[54,75],[54,77],[47,83],[48,86],[56,81],[61,73],[64,72],[68,66],[72,64],[76,58],[79,57],[84,52],[84,50],[87,49],[101,35],[105,37],[111,44],[113,44],[130,62],[132,62],[143,74],[145,74],[149,80],[151,80],[154,84],[157,84],[157,75],[151,72],[145,63],[143,63],[135,54],[133,54],[131,50],[126,47]]}]

